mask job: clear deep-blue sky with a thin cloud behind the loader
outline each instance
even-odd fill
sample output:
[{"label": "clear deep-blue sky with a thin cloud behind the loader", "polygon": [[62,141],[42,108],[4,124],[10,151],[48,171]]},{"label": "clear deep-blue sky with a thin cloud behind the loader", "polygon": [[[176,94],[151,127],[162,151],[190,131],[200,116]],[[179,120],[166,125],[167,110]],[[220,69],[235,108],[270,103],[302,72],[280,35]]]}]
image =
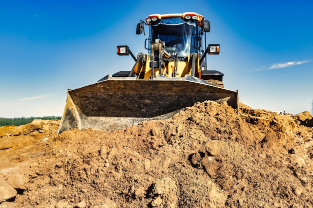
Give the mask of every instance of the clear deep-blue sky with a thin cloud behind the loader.
[{"label": "clear deep-blue sky with a thin cloud behind the loader", "polygon": [[252,108],[297,114],[313,100],[313,2],[250,0],[0,0],[0,117],[61,116],[66,89],[130,70],[127,44],[146,53],[140,19],[151,13],[202,14],[207,43],[220,54],[208,69],[224,73]]}]

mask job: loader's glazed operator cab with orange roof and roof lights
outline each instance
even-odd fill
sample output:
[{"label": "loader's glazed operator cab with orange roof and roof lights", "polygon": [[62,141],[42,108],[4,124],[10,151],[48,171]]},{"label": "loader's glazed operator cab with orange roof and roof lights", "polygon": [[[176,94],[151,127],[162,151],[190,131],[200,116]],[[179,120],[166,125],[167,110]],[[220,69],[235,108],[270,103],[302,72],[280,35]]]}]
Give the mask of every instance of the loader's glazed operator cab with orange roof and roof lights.
[{"label": "loader's glazed operator cab with orange roof and roof lights", "polygon": [[165,42],[165,50],[176,53],[184,60],[190,53],[203,53],[201,38],[203,31],[209,31],[209,22],[195,12],[180,14],[151,14],[145,18],[149,25],[149,46],[156,39]]}]

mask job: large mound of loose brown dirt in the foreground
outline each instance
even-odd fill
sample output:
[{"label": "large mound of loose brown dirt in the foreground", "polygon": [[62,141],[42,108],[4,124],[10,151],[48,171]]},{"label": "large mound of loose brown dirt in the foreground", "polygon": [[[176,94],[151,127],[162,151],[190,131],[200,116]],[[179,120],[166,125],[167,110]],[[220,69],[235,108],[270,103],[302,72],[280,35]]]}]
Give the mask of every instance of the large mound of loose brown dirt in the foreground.
[{"label": "large mound of loose brown dirt in the foreground", "polygon": [[111,132],[0,127],[0,177],[16,190],[0,208],[310,208],[311,121],[206,101]]}]

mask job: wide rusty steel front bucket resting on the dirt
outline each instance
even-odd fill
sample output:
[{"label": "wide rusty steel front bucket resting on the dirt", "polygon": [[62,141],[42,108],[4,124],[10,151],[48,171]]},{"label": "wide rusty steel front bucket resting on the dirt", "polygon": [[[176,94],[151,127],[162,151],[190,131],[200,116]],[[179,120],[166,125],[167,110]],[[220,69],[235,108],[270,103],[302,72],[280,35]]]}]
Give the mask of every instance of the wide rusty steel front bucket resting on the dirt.
[{"label": "wide rusty steel front bucket resting on the dirt", "polygon": [[115,130],[142,121],[166,119],[197,102],[227,102],[237,108],[236,91],[208,84],[186,75],[184,78],[110,77],[67,91],[58,133],[70,128]]}]

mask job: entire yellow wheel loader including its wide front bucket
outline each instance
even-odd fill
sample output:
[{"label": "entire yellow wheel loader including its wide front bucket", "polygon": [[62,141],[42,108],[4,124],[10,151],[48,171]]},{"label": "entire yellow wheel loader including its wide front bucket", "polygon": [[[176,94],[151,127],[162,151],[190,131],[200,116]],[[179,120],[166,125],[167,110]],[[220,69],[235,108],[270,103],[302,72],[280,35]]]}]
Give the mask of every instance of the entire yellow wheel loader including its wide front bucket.
[{"label": "entire yellow wheel loader including its wide front bucket", "polygon": [[209,21],[195,12],[151,14],[140,20],[136,34],[146,36],[147,53],[135,56],[127,45],[119,45],[117,54],[131,55],[132,68],[67,90],[58,133],[71,128],[111,131],[167,119],[205,100],[236,109],[237,91],[224,89],[223,73],[206,68],[206,56],[219,54],[219,44],[206,45],[209,31]]}]

